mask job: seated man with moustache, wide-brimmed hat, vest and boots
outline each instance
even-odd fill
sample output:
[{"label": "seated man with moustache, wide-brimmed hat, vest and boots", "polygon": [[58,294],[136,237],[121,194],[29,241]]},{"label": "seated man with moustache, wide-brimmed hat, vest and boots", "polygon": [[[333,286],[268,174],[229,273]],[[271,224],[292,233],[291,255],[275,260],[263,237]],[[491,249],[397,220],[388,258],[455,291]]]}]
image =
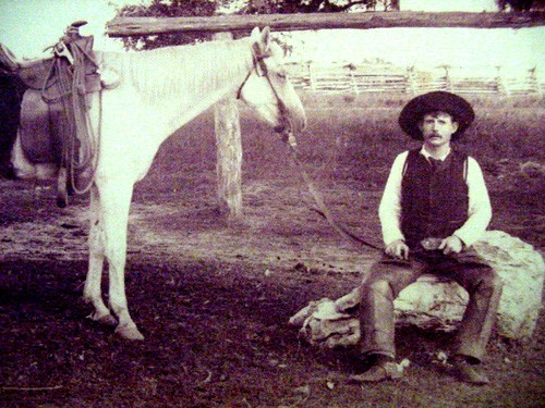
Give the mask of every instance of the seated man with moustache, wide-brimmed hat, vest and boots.
[{"label": "seated man with moustache, wide-brimmed hat, vest and boots", "polygon": [[433,273],[458,282],[470,297],[449,357],[453,375],[488,383],[476,364],[488,343],[501,282],[471,245],[491,221],[491,201],[477,162],[451,147],[473,119],[464,99],[444,91],[414,98],[400,114],[401,128],[423,146],[399,154],[386,183],[379,207],[386,250],[361,287],[361,353],[368,369],[353,382],[399,376],[393,299],[423,273]]}]

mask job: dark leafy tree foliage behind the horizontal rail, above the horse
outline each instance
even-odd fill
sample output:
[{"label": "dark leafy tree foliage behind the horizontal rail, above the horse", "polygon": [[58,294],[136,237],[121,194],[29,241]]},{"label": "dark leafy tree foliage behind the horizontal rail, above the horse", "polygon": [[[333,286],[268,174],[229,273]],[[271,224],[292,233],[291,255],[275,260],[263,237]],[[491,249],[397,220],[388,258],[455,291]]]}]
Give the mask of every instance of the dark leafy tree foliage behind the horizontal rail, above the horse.
[{"label": "dark leafy tree foliage behind the horizontal rail, above the horse", "polygon": [[[134,0],[136,1],[136,0]],[[349,10],[399,10],[400,0],[246,0],[238,14],[338,13]],[[210,16],[232,0],[153,0],[149,5],[125,5],[118,16],[181,17]],[[125,48],[153,49],[207,40],[210,34],[172,33],[159,36],[123,37]]]}]

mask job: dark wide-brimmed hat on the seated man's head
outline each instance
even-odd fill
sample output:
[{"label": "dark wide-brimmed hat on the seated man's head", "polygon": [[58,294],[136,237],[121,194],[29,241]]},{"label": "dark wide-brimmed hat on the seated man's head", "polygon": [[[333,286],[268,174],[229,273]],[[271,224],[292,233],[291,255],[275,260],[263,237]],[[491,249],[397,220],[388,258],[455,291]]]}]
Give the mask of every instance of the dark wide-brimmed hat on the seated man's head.
[{"label": "dark wide-brimmed hat on the seated man's head", "polygon": [[475,112],[465,99],[451,92],[437,90],[411,99],[399,115],[399,125],[413,139],[422,140],[419,122],[426,113],[438,111],[449,113],[458,123],[458,131],[452,134],[452,139],[462,136],[475,119]]}]

